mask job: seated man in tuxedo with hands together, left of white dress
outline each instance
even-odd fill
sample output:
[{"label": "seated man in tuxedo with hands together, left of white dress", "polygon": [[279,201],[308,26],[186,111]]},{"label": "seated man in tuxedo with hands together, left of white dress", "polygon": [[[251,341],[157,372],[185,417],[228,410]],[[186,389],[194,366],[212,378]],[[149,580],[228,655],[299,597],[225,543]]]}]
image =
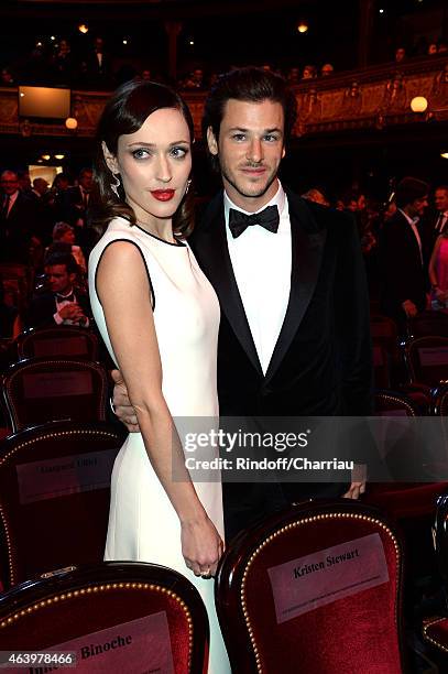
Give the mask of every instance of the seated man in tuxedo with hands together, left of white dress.
[{"label": "seated man in tuxedo with hands together, left of white dress", "polygon": [[69,253],[54,253],[46,260],[48,291],[31,301],[25,318],[26,327],[89,326],[91,312],[88,297],[74,290],[77,272],[78,265]]}]

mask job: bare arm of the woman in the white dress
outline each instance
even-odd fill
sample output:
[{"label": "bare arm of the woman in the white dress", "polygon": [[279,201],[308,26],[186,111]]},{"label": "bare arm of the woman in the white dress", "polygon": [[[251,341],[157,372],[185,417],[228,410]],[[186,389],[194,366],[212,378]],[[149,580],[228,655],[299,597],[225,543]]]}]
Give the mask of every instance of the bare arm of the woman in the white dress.
[{"label": "bare arm of the woman in the white dress", "polygon": [[98,265],[97,292],[147,456],[181,521],[186,565],[196,575],[215,574],[222,541],[185,468],[181,441],[162,393],[150,283],[134,244],[117,241],[108,246]]}]

